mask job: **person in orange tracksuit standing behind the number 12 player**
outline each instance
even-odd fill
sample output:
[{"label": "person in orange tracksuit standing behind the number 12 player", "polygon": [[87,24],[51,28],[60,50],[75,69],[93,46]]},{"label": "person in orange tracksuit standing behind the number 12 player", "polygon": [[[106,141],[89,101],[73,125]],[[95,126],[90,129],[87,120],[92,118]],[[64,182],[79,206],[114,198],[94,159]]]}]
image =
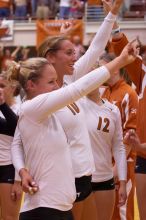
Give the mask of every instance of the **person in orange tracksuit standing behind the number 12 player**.
[{"label": "person in orange tracksuit standing behind the number 12 player", "polygon": [[[113,54],[104,54],[100,60],[100,65],[104,65],[115,56]],[[117,105],[121,112],[123,134],[125,135],[129,129],[136,129],[136,116],[138,109],[138,97],[136,92],[128,85],[120,71],[115,73],[107,81],[108,87],[102,95],[111,103]],[[127,220],[134,219],[134,194],[135,194],[135,178],[134,178],[134,167],[135,167],[135,152],[131,149],[131,146],[126,142],[127,152],[127,202],[124,206],[118,207],[118,194],[117,201],[115,204],[115,210],[113,214],[113,220],[122,219],[123,216]],[[118,184],[118,182],[117,182]]]}]

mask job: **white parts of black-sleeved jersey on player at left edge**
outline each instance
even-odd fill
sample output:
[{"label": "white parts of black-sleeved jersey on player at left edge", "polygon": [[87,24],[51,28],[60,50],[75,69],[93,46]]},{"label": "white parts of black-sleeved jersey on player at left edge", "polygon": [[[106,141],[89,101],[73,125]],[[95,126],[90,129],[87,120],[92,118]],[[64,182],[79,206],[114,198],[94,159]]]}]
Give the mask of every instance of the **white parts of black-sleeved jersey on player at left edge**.
[{"label": "white parts of black-sleeved jersey on player at left edge", "polygon": [[[18,115],[20,105],[14,104],[11,109]],[[0,116],[4,118],[0,112]],[[13,137],[5,134],[0,134],[0,166],[12,164],[11,143]]]}]

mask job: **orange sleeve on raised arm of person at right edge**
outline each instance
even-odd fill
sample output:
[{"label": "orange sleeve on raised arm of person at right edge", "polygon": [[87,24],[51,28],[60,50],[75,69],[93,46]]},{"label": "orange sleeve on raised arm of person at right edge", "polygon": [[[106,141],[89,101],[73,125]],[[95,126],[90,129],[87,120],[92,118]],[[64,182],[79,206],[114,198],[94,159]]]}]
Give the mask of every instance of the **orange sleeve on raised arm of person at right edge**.
[{"label": "orange sleeve on raised arm of person at right edge", "polygon": [[[112,41],[112,48],[114,49],[114,52],[117,56],[120,55],[127,43],[128,40],[124,34],[120,40]],[[127,65],[125,69],[130,79],[135,84],[136,91],[139,94],[141,91],[142,80],[145,75],[145,72],[142,69],[142,59],[140,57],[137,57],[136,60],[133,63]]]}]

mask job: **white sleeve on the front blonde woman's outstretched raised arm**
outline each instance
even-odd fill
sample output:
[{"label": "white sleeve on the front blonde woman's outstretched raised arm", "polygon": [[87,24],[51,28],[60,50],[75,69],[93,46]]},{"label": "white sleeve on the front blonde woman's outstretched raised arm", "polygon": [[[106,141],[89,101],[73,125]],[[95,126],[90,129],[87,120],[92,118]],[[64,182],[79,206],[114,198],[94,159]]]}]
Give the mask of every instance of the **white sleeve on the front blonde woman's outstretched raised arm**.
[{"label": "white sleeve on the front blonde woman's outstretched raised arm", "polygon": [[39,123],[57,110],[87,95],[109,77],[110,73],[105,66],[93,70],[68,86],[26,101],[22,107],[21,117],[25,114]]}]

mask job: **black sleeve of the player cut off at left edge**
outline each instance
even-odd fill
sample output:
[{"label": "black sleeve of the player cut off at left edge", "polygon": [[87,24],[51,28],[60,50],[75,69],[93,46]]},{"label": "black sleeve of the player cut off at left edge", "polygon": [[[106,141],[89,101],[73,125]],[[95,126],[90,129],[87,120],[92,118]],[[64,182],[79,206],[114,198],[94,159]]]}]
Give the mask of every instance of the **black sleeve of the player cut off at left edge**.
[{"label": "black sleeve of the player cut off at left edge", "polygon": [[14,136],[14,132],[18,120],[17,115],[12,111],[12,109],[6,103],[0,105],[0,110],[5,117],[5,119],[0,118],[1,134]]}]

